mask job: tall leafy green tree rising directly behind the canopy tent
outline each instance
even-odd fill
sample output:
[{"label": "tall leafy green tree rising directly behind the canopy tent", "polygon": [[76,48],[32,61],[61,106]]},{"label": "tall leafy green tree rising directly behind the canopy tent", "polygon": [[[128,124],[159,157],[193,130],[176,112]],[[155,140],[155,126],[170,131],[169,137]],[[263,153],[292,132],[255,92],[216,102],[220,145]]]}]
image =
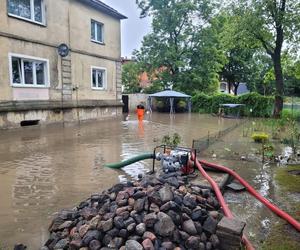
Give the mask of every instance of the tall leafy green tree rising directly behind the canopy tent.
[{"label": "tall leafy green tree rising directly behind the canopy tent", "polygon": [[[142,47],[135,52],[137,59],[147,65],[149,75],[156,75],[165,88],[191,90],[202,88],[199,76],[199,47],[203,38],[199,36],[207,27],[212,15],[212,4],[208,0],[137,0],[141,17],[152,16],[153,32],[144,37]],[[209,60],[209,56],[206,58]],[[197,61],[197,63],[196,63]],[[205,61],[205,59],[203,59]],[[158,70],[163,69],[163,70]],[[211,70],[210,70],[211,71]],[[211,76],[206,71],[206,76]],[[215,76],[214,76],[215,77]],[[190,79],[187,83],[187,79]],[[213,82],[213,81],[212,81]],[[207,89],[210,81],[206,81]]]}]

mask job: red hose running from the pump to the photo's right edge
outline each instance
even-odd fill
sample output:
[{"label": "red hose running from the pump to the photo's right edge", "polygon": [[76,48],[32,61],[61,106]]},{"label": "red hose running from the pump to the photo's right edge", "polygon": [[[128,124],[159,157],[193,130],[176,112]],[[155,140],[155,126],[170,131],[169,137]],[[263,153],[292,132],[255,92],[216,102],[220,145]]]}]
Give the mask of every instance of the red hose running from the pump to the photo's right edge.
[{"label": "red hose running from the pump to the photo's right edge", "polygon": [[[294,228],[296,228],[296,230],[300,231],[300,223],[295,220],[292,216],[290,216],[289,214],[287,214],[286,212],[282,211],[281,209],[279,209],[277,206],[273,205],[270,201],[268,201],[266,198],[262,197],[258,192],[255,191],[255,189],[250,186],[250,184],[248,182],[246,182],[242,177],[240,177],[236,172],[234,172],[233,170],[226,168],[224,166],[218,165],[218,164],[214,164],[214,163],[210,163],[207,161],[203,161],[203,160],[196,160],[196,164],[197,163],[202,163],[204,165],[207,165],[209,167],[224,171],[230,175],[232,175],[235,179],[237,179],[246,189],[247,191],[252,194],[257,200],[259,200],[261,203],[263,203],[266,207],[268,207],[270,210],[272,210],[275,214],[277,214],[278,216],[280,216],[282,219],[286,220],[288,223],[290,223]],[[201,165],[201,164],[200,164]],[[197,167],[199,168],[199,166],[197,165]],[[200,169],[199,169],[200,170]]]}]

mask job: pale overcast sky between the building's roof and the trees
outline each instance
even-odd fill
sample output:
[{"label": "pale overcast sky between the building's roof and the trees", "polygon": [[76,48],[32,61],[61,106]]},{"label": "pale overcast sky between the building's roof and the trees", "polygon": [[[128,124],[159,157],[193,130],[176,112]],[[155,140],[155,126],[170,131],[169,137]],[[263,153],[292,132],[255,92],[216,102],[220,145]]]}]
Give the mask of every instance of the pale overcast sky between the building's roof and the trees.
[{"label": "pale overcast sky between the building's roof and the trees", "polygon": [[151,31],[150,18],[140,19],[140,10],[135,0],[101,0],[116,9],[128,19],[121,21],[122,56],[130,57],[134,49],[139,49],[143,36]]}]

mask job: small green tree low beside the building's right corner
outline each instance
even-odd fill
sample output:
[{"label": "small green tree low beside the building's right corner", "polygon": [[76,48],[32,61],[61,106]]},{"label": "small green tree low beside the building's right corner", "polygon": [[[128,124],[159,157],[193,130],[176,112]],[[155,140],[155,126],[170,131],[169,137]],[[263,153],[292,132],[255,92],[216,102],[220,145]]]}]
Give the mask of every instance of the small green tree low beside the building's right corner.
[{"label": "small green tree low beside the building's right corner", "polygon": [[140,65],[136,62],[129,62],[122,66],[122,84],[125,93],[139,93],[140,87]]}]

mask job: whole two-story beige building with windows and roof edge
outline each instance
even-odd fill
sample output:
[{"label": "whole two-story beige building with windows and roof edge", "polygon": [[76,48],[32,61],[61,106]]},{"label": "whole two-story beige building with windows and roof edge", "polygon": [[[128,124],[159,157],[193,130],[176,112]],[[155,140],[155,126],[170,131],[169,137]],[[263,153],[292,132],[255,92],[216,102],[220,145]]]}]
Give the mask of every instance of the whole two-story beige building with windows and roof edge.
[{"label": "whole two-story beige building with windows and roof edge", "polygon": [[0,0],[0,128],[120,115],[125,18],[99,0]]}]

